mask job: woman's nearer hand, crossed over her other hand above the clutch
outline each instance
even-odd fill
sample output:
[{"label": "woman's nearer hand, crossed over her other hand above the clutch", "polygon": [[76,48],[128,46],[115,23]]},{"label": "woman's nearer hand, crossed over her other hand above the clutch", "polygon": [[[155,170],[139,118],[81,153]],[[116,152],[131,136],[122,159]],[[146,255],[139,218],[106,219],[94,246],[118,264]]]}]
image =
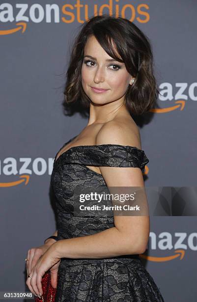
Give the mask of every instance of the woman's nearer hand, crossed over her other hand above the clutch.
[{"label": "woman's nearer hand, crossed over her other hand above the clutch", "polygon": [[58,242],[52,244],[46,252],[39,258],[37,263],[34,265],[32,271],[29,273],[31,278],[28,277],[26,284],[28,285],[29,290],[35,296],[42,296],[42,277],[46,271],[49,269],[52,272],[52,286],[56,287],[57,283],[57,271],[60,264],[60,258],[57,256],[57,246]]}]

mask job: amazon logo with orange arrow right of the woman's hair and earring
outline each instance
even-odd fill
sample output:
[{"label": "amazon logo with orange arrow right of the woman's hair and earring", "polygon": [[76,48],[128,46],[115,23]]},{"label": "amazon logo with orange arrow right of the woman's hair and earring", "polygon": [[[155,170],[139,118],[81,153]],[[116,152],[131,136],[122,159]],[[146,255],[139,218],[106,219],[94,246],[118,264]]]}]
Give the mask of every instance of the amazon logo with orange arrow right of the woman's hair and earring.
[{"label": "amazon logo with orange arrow right of the woman's hair and earring", "polygon": [[190,86],[188,83],[175,83],[176,92],[174,93],[174,89],[171,83],[165,82],[161,83],[159,86],[160,94],[159,100],[162,102],[172,101],[174,103],[165,108],[154,108],[150,109],[150,112],[154,113],[169,113],[174,110],[182,111],[185,108],[186,101],[188,98],[192,101],[197,101],[197,92],[195,94],[195,88],[197,88],[197,82],[192,83]]}]

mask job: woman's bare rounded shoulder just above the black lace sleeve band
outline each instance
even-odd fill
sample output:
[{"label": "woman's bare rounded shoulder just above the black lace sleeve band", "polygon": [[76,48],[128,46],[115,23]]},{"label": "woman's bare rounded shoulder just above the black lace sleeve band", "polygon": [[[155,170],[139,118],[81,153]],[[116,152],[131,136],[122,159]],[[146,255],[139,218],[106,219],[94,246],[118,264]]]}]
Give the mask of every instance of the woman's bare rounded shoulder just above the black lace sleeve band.
[{"label": "woman's bare rounded shoulder just above the black lace sleeve band", "polygon": [[129,118],[117,118],[105,123],[96,136],[96,145],[114,144],[141,149],[140,130]]}]

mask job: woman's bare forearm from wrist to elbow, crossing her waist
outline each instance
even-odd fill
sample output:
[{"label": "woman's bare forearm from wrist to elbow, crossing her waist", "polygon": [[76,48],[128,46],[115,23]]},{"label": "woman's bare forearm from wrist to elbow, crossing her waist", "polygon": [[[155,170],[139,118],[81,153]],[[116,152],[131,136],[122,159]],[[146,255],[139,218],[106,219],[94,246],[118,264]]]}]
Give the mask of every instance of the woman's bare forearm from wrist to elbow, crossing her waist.
[{"label": "woman's bare forearm from wrist to elbow, crossing her waist", "polygon": [[[124,217],[124,219],[127,218],[130,217]],[[133,217],[133,219],[136,221],[135,227],[139,231],[139,217]],[[149,217],[140,217],[140,220],[140,225],[146,227]],[[116,227],[111,227],[89,236],[62,239],[54,245],[59,258],[92,259],[141,254],[145,251],[146,246],[141,245],[137,230],[131,236],[119,231]]]}]

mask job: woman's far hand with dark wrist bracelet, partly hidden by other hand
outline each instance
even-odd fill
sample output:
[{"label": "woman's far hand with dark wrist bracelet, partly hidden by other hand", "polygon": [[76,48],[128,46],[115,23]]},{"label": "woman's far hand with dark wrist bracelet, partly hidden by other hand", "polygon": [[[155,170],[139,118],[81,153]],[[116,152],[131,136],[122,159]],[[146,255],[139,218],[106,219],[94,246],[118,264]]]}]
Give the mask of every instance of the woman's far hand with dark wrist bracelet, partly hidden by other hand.
[{"label": "woman's far hand with dark wrist bracelet, partly hidden by other hand", "polygon": [[[28,261],[26,262],[27,275],[33,270],[33,267],[35,266],[35,264],[37,263],[37,261],[39,260],[39,258],[55,242],[56,242],[55,239],[50,238],[50,239],[47,240],[47,243],[45,243],[45,244],[43,244],[41,246],[38,246],[38,247],[31,248],[31,249],[28,250],[28,256],[27,256]],[[57,276],[54,273],[55,269],[56,269],[56,267],[54,267],[52,269],[53,270],[52,271],[53,277],[51,278],[51,283],[52,283],[53,287],[54,287],[54,285],[56,285],[56,279],[57,279]],[[58,270],[58,268],[57,268],[57,270]],[[29,290],[32,292],[32,294],[35,295],[35,293],[33,292],[32,288],[30,286],[30,278],[27,278],[26,284],[28,285]]]}]

